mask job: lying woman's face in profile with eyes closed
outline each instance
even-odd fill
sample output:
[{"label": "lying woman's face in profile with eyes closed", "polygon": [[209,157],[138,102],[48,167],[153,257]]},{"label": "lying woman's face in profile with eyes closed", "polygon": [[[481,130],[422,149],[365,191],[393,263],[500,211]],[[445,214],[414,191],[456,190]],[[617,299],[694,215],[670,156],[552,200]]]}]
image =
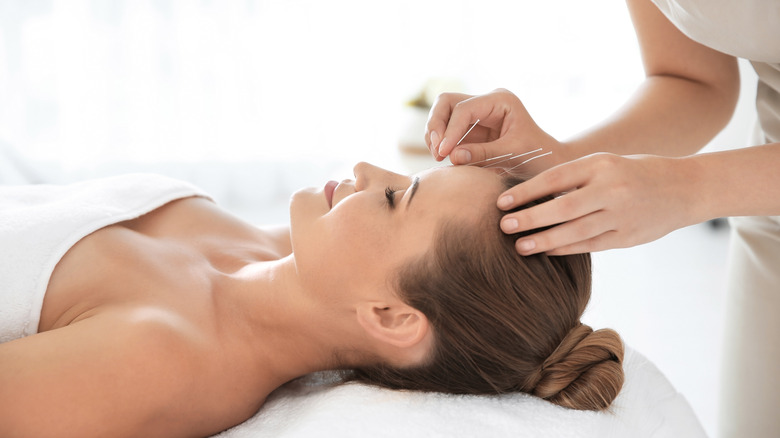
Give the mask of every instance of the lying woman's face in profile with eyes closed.
[{"label": "lying woman's face in profile with eyes closed", "polygon": [[503,188],[494,171],[470,166],[404,176],[358,163],[354,174],[292,197],[293,254],[307,288],[388,286],[398,268],[431,248],[443,221],[475,226]]}]

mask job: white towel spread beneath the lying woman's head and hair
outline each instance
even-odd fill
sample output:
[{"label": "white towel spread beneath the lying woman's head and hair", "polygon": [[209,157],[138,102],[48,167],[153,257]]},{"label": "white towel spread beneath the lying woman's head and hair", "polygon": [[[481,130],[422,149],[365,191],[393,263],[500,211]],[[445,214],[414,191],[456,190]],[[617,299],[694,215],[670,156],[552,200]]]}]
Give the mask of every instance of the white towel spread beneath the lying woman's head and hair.
[{"label": "white towel spread beneath the lying woman's head and hair", "polygon": [[280,388],[254,417],[216,437],[706,437],[655,365],[627,349],[624,369],[609,412],[565,409],[526,394],[403,392],[313,377]]}]

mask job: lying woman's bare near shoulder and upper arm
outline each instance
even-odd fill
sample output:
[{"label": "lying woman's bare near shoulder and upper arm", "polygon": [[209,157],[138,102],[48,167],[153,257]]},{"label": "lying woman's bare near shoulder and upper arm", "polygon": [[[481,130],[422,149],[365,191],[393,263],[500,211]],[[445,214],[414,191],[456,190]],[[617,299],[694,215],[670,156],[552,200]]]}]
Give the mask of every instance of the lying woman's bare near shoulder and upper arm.
[{"label": "lying woman's bare near shoulder and upper arm", "polygon": [[0,436],[216,433],[235,421],[200,402],[215,377],[207,343],[186,321],[136,309],[0,344]]}]

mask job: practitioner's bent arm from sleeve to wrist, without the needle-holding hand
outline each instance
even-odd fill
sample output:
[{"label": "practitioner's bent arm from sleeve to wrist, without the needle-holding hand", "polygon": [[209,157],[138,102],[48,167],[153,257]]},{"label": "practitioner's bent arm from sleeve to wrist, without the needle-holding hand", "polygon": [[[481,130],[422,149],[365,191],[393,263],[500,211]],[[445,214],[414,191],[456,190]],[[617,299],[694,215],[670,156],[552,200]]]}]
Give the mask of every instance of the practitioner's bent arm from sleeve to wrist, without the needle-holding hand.
[{"label": "practitioner's bent arm from sleeve to wrist, without the needle-holding hand", "polygon": [[645,81],[612,117],[564,142],[569,159],[594,152],[689,155],[723,129],[736,107],[736,58],[685,36],[650,0],[626,3]]}]

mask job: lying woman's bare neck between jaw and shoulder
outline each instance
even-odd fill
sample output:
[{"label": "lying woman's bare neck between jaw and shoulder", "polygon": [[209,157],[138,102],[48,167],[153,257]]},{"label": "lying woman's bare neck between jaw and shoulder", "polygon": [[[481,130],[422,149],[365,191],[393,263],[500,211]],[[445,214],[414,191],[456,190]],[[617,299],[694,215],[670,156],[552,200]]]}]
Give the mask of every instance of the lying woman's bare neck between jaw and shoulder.
[{"label": "lying woman's bare neck between jaw and shoulder", "polygon": [[[302,287],[292,255],[244,266],[217,286],[220,320],[236,348],[274,386],[315,371],[343,367],[337,352],[361,342],[346,303]],[[270,383],[270,382],[269,382]]]}]

